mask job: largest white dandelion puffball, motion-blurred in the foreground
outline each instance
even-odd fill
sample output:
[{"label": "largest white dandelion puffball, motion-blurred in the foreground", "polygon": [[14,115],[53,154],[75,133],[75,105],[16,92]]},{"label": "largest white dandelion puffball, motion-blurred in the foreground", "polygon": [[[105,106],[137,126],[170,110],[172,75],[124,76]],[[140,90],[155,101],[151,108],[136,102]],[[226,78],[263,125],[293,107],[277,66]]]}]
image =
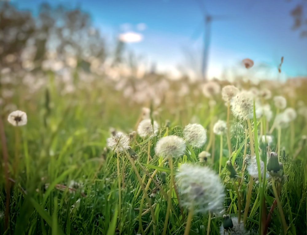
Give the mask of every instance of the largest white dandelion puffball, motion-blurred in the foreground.
[{"label": "largest white dandelion puffball, motion-blurred in the foreground", "polygon": [[184,163],[176,174],[181,203],[195,213],[220,213],[225,199],[224,186],[207,166]]}]

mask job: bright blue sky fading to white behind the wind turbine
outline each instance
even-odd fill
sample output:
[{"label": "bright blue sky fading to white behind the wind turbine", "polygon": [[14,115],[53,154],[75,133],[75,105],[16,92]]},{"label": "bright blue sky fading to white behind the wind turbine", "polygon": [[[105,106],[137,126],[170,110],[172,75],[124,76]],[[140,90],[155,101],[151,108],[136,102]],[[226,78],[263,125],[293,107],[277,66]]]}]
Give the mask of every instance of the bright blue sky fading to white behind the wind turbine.
[{"label": "bright blue sky fading to white behind the wind turbine", "polygon": [[[12,2],[23,9],[37,9],[43,1]],[[200,55],[204,11],[197,0],[49,2],[81,6],[91,14],[95,27],[110,40],[127,31],[142,34],[142,41],[129,43],[127,47],[143,55],[148,63],[157,62],[159,70],[173,71],[178,65],[185,65],[184,50],[191,51],[196,57]],[[299,32],[291,30],[290,10],[301,0],[202,2],[211,15],[229,17],[225,21],[212,22],[209,75],[219,76],[224,68],[234,66],[246,57],[253,59],[255,64],[264,62],[277,67],[281,56],[284,56],[282,70],[288,76],[307,74],[307,38],[300,38]],[[146,29],[138,31],[139,23],[146,24]],[[125,30],[123,25],[126,25]],[[198,37],[192,37],[195,31],[200,31]]]}]

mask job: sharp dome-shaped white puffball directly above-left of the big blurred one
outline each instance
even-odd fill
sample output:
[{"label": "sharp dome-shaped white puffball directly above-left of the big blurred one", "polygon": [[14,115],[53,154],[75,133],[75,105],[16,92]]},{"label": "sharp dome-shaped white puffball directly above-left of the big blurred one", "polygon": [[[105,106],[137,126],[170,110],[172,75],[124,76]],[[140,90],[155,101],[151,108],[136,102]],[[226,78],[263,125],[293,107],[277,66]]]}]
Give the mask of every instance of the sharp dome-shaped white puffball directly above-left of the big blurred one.
[{"label": "sharp dome-shaped white puffball directly above-left of the big blurred one", "polygon": [[185,141],[178,136],[162,137],[157,142],[155,152],[163,158],[178,158],[185,152]]}]

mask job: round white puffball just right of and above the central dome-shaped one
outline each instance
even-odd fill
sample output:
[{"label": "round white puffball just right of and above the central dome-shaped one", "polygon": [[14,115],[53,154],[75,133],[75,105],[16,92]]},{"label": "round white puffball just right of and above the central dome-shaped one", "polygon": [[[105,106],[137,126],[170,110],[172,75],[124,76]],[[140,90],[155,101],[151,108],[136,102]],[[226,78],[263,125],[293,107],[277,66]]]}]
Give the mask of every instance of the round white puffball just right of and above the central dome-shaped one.
[{"label": "round white puffball just right of and above the central dome-shaped one", "polygon": [[203,147],[207,141],[207,131],[200,124],[189,124],[183,129],[183,136],[192,147]]}]

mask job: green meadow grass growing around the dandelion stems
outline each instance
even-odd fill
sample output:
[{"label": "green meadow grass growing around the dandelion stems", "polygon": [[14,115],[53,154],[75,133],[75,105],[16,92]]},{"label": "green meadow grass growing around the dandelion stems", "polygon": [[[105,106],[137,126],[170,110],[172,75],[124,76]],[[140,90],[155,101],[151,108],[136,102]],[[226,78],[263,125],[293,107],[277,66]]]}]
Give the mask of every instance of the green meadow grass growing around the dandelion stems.
[{"label": "green meadow grass growing around the dandelion stems", "polygon": [[[8,229],[5,230],[4,216],[1,216],[1,234],[135,235],[143,233],[147,235],[162,233],[167,207],[167,200],[163,193],[158,192],[156,197],[150,198],[154,219],[147,210],[148,201],[144,199],[141,228],[138,208],[141,206],[144,192],[140,188],[141,184],[133,165],[124,153],[119,155],[120,175],[122,176],[122,169],[124,169],[125,184],[125,187],[121,188],[122,203],[119,205],[117,154],[110,149],[104,149],[106,139],[111,135],[109,128],[115,127],[117,130],[129,133],[137,123],[142,106],[149,104],[129,102],[122,97],[120,92],[114,91],[112,84],[102,81],[95,81],[94,84],[89,85],[89,88],[81,86],[72,94],[61,95],[60,86],[54,82],[53,75],[48,76],[50,80],[45,89],[32,94],[29,99],[24,98],[26,91],[23,91],[24,93],[19,93],[10,101],[16,103],[18,109],[27,113],[27,125],[16,131],[16,127],[6,121],[8,113],[3,111],[1,113],[5,124],[10,177],[15,181],[10,186]],[[279,94],[278,90],[272,92]],[[297,88],[296,99],[305,99],[302,88]],[[208,147],[211,133],[210,122],[218,119],[226,120],[227,107],[224,106],[220,95],[217,95],[215,100],[217,105],[210,112],[209,100],[202,96],[189,95],[178,99],[165,97],[159,107],[160,113],[154,117],[160,124],[160,131],[158,136],[150,140],[150,148],[148,148],[149,140],[143,140],[139,136],[136,136],[131,143],[131,148],[138,154],[138,159],[134,161],[135,167],[145,183],[150,178],[146,171],[152,174],[154,170],[157,170],[157,177],[153,179],[158,181],[161,189],[165,194],[167,193],[170,169],[168,164],[158,166],[161,159],[155,155],[154,147],[157,140],[165,135],[182,136],[182,129],[193,116],[196,116],[200,124],[207,129],[207,143],[203,149],[187,147],[186,154],[174,159],[173,164],[175,171],[183,162],[201,164],[197,156],[200,151]],[[295,104],[295,100],[290,98],[288,102]],[[273,101],[269,100],[268,103],[274,109]],[[170,120],[169,127],[165,125],[166,120]],[[231,124],[237,121],[231,116]],[[260,120],[254,119],[254,121]],[[257,132],[256,127],[259,130],[260,125],[256,126],[252,119],[251,122],[253,130]],[[244,122],[242,124],[245,125]],[[271,127],[272,121],[269,125]],[[293,160],[293,155],[300,146],[301,136],[306,134],[305,125],[305,119],[298,116],[294,124],[293,150],[290,148],[290,127],[282,129],[281,146],[285,147],[285,152],[281,160],[286,177],[278,190],[289,226],[287,234],[305,234],[307,231],[307,152],[305,145]],[[274,151],[277,143],[277,130],[274,130],[272,134],[274,136],[272,150]],[[16,135],[19,135],[19,139],[16,138]],[[236,165],[237,172],[241,171],[244,160],[244,141],[244,130],[235,129],[231,132],[233,151],[231,161]],[[255,147],[258,150],[258,142]],[[261,146],[260,148],[263,149]],[[15,156],[16,149],[17,156]],[[1,152],[2,150],[3,147],[1,147]],[[208,159],[208,165],[218,172],[220,155],[218,136],[215,137],[208,151],[214,154],[213,161]],[[221,179],[226,193],[223,206],[225,211],[235,215],[238,208],[237,192],[225,167],[228,160],[226,136],[223,138],[222,151]],[[247,147],[247,154],[250,151],[250,148]],[[148,154],[152,160],[147,164]],[[263,158],[260,153],[256,152],[256,154],[258,158]],[[2,158],[1,163],[3,163]],[[125,164],[124,168],[123,164]],[[0,170],[4,172],[3,164]],[[68,188],[59,189],[59,185],[69,185],[71,180],[82,182],[83,186],[77,188],[75,192],[70,192]],[[241,178],[238,177],[237,181],[241,181]],[[240,187],[242,210],[246,204],[248,182],[249,176],[245,170],[243,184]],[[46,184],[48,187],[45,187]],[[0,185],[0,212],[4,214],[6,206],[4,174],[1,174]],[[155,183],[151,182],[149,188],[147,193],[150,197],[151,191],[156,188]],[[181,211],[175,192],[172,192],[171,195],[173,208],[169,214],[167,234],[183,234],[188,211],[185,208]],[[261,206],[263,200],[265,200],[265,207]],[[251,234],[259,232],[262,218],[259,213],[265,210],[265,213],[268,214],[273,201],[271,181],[261,183],[261,188],[254,182],[246,223],[246,228]],[[156,223],[154,224],[153,221]],[[206,234],[207,224],[208,214],[195,214],[192,217],[190,234]],[[221,224],[222,216],[213,214],[210,234],[219,234]],[[282,223],[277,207],[271,215],[268,234],[282,234]]]}]

